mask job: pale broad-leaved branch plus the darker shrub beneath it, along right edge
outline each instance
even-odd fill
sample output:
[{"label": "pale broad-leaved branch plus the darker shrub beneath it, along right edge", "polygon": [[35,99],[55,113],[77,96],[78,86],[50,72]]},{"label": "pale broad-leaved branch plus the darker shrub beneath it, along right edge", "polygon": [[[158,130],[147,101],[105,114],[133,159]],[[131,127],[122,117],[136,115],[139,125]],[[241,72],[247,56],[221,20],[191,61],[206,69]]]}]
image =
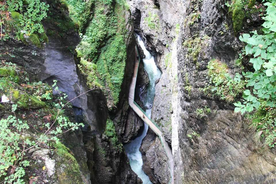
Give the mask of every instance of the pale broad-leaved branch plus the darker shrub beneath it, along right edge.
[{"label": "pale broad-leaved branch plus the darker shrub beneath it, along right edge", "polygon": [[[235,112],[252,112],[249,119],[252,127],[258,131],[269,147],[276,145],[276,1],[264,3],[267,7],[262,24],[263,34],[252,31],[239,39],[246,43],[241,60],[253,65],[253,71],[244,71],[243,77],[247,89],[243,99],[234,105]],[[255,111],[254,111],[255,110]]]}]

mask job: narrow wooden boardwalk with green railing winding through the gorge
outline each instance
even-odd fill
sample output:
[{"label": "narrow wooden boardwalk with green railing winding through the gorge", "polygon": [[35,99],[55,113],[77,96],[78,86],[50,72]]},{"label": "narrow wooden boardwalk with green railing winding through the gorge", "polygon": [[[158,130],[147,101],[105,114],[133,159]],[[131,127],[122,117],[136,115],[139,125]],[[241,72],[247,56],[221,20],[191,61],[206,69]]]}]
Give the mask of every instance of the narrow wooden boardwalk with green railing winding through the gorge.
[{"label": "narrow wooden boardwalk with green railing winding through the gorge", "polygon": [[[136,58],[138,56],[138,51],[137,48],[136,50]],[[170,175],[171,175],[171,180],[170,180],[170,184],[174,183],[174,179],[173,179],[173,154],[172,154],[172,150],[170,149],[170,146],[168,145],[168,143],[165,141],[162,132],[160,130],[160,128],[158,127],[158,125],[156,123],[154,123],[150,117],[147,117],[145,112],[134,102],[134,93],[135,93],[135,85],[136,85],[136,78],[137,78],[137,73],[138,73],[138,68],[139,68],[139,59],[135,59],[135,64],[134,64],[134,72],[133,72],[133,76],[132,76],[132,80],[131,80],[131,85],[129,88],[129,106],[133,109],[134,112],[136,112],[136,114],[147,124],[149,125],[149,127],[156,133],[156,135],[158,135],[162,146],[164,147],[164,150],[168,156],[168,160],[169,160],[169,166],[170,166]],[[144,117],[143,117],[144,114]]]}]

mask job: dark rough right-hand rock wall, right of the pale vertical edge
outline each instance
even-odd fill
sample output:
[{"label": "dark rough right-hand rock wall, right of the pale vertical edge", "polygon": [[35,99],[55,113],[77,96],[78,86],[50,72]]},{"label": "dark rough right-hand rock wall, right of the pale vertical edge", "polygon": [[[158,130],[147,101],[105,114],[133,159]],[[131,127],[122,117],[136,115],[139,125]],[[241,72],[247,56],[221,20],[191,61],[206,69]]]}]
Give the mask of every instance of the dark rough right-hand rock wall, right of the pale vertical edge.
[{"label": "dark rough right-hand rock wall, right of the pale vertical edge", "polygon": [[[275,149],[259,147],[254,132],[233,105],[206,97],[201,90],[208,84],[207,63],[215,58],[227,64],[234,74],[234,61],[241,43],[234,35],[231,17],[223,1],[187,1],[178,40],[179,110],[178,141],[174,149],[176,182],[183,183],[273,183]],[[196,12],[200,17],[193,18]],[[256,21],[256,20],[255,20]],[[258,20],[257,20],[258,21]],[[191,22],[191,23],[189,23]],[[245,25],[257,27],[260,22]],[[193,40],[193,50],[189,44]],[[194,44],[198,40],[200,46]],[[184,44],[183,44],[184,43]],[[186,42],[187,43],[187,42]],[[189,83],[189,84],[187,84]],[[188,86],[188,87],[187,87]],[[187,90],[188,89],[188,90]],[[208,107],[205,117],[195,112]],[[187,138],[195,131],[200,137]],[[253,134],[253,135],[252,135]],[[186,137],[186,138],[185,138]]]}]

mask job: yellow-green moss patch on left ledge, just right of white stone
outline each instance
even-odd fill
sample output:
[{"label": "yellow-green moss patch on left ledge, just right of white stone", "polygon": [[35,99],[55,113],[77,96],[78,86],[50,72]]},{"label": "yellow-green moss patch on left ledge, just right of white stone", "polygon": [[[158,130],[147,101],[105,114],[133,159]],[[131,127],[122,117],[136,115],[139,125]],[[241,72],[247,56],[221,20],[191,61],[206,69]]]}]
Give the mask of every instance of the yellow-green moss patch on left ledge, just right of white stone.
[{"label": "yellow-green moss patch on left ledge, just right of white stone", "polygon": [[20,93],[20,91],[18,90],[14,90],[13,91],[13,98],[14,98],[14,102],[16,102],[16,104],[18,104],[19,108],[24,108],[24,109],[28,109],[28,108],[43,108],[45,107],[45,102],[40,101],[39,99],[37,99],[34,96],[30,96],[27,93]]}]

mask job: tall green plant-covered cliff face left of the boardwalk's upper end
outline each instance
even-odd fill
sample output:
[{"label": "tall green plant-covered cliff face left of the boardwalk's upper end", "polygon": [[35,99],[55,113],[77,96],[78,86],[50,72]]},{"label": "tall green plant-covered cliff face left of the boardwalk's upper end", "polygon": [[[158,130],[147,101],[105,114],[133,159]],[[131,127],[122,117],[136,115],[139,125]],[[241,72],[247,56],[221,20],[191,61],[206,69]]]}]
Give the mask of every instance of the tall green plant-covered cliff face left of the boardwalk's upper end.
[{"label": "tall green plant-covered cliff face left of the boardwalk's upper end", "polygon": [[[68,2],[70,5],[73,4],[73,0]],[[116,106],[127,59],[125,12],[128,11],[128,7],[123,0],[116,0],[115,3],[108,0],[95,0],[93,3],[95,4],[94,14],[77,47],[77,52],[81,57],[80,65],[83,74],[87,77],[89,87],[107,89],[108,101],[112,106]],[[76,8],[71,11],[76,11]],[[73,16],[73,19],[80,19],[80,17]],[[97,67],[91,67],[93,64]]]}]

